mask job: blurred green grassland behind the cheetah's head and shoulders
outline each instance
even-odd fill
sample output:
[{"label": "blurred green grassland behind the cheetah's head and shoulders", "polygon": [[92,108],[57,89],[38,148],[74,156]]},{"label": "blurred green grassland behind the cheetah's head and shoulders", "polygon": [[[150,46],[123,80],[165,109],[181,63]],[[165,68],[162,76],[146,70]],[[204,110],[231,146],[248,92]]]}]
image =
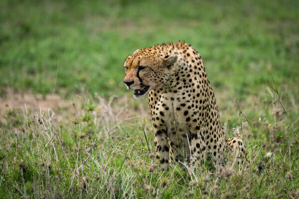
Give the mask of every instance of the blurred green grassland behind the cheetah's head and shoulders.
[{"label": "blurred green grassland behind the cheetah's head and shoulders", "polygon": [[298,96],[298,19],[298,0],[1,0],[0,94],[121,96],[129,54],[184,40],[214,90],[242,99],[274,79]]}]

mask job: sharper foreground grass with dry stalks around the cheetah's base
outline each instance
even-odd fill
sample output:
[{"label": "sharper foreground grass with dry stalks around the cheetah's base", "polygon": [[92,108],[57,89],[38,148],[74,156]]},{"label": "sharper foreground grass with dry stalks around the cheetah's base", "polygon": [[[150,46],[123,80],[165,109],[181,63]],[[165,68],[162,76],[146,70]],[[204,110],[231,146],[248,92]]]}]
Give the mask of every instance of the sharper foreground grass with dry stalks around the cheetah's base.
[{"label": "sharper foreground grass with dry stalks around the cheetah's base", "polygon": [[[7,108],[0,125],[0,196],[297,198],[298,117],[283,108],[275,90],[269,91],[272,96],[265,98],[273,100],[270,107],[261,109],[267,101],[249,100],[240,116],[237,103],[227,115],[230,137],[234,127],[242,126],[239,132],[251,164],[238,165],[228,158],[225,167],[190,170],[174,165],[166,172],[154,160],[151,121],[123,116],[140,112],[130,109],[132,102],[82,100],[76,104],[83,107],[80,113],[63,116],[50,109]],[[128,110],[121,108],[126,106]]]}]

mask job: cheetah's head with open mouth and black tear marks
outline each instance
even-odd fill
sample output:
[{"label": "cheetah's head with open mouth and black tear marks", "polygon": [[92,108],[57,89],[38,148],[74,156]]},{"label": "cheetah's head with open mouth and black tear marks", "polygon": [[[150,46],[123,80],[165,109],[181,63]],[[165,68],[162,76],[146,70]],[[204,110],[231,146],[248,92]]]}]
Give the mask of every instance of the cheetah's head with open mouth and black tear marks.
[{"label": "cheetah's head with open mouth and black tear marks", "polygon": [[125,61],[124,83],[134,90],[134,98],[141,98],[167,82],[176,61],[177,55],[159,57],[148,49],[136,50]]}]

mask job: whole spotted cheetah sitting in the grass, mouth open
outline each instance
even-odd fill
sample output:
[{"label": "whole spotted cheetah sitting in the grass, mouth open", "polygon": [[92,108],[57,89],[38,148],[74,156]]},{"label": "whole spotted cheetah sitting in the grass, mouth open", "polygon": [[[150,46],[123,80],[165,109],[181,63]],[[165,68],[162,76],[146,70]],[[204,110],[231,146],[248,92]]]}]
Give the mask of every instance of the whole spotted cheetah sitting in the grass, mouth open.
[{"label": "whole spotted cheetah sitting in the grass, mouth open", "polygon": [[223,164],[226,148],[244,150],[242,140],[225,140],[201,56],[191,45],[179,41],[138,49],[124,68],[124,83],[134,98],[148,94],[155,157],[163,169],[207,157]]}]

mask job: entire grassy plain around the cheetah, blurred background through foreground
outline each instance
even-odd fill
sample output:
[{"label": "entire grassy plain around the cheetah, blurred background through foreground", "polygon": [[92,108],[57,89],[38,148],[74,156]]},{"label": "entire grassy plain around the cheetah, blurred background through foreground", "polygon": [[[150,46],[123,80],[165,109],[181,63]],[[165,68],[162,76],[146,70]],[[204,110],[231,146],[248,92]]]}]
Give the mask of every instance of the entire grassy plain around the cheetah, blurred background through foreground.
[{"label": "entire grassy plain around the cheetah, blurred background through foreground", "polygon": [[[0,107],[0,198],[298,198],[298,7],[0,1],[1,103],[13,89],[71,105]],[[177,40],[200,52],[227,138],[240,133],[250,164],[228,154],[224,167],[165,172],[154,160],[146,99],[125,93],[122,65]]]}]

